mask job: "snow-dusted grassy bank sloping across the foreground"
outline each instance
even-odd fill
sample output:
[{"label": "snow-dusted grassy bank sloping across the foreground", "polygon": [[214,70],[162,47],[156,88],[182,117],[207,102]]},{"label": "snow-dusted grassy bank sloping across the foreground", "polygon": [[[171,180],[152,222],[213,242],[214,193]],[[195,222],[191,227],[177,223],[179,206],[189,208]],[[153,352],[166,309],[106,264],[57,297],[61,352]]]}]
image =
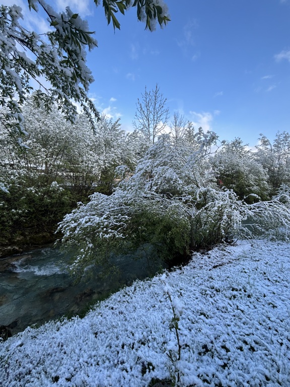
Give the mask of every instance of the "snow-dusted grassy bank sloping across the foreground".
[{"label": "snow-dusted grassy bank sloping across the foreground", "polygon": [[179,372],[183,386],[290,386],[289,269],[288,243],[196,253],[188,266],[120,290],[83,319],[0,343],[0,385],[147,387]]}]

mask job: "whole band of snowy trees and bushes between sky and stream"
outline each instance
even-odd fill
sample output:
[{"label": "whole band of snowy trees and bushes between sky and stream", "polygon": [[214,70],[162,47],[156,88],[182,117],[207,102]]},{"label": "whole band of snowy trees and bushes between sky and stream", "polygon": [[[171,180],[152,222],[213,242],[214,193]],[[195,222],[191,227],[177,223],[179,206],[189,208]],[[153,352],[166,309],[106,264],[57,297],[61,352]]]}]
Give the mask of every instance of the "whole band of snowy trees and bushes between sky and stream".
[{"label": "whole band of snowy trees and bushes between sky and stream", "polygon": [[[279,211],[287,213],[288,133],[273,143],[261,135],[256,152],[239,138],[220,141],[179,112],[169,121],[158,86],[137,100],[131,133],[119,119],[100,115],[93,128],[84,114],[72,124],[56,106],[47,113],[38,104],[33,95],[25,104],[23,146],[0,126],[2,245],[53,240],[61,222],[63,246],[88,253],[83,269],[149,245],[181,259],[248,237],[266,218],[279,225]],[[264,220],[248,222],[262,212]]]}]

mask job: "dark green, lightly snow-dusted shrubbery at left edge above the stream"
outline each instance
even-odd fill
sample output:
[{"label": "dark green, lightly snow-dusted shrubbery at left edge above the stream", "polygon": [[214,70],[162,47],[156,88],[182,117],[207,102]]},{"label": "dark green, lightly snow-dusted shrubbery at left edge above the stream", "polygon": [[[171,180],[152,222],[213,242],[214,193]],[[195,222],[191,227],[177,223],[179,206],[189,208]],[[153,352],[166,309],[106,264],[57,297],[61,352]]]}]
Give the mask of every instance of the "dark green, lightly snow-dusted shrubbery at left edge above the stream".
[{"label": "dark green, lightly snow-dusted shrubbery at left edge above the stream", "polygon": [[[1,171],[0,171],[1,172]],[[33,243],[38,234],[53,232],[61,219],[71,211],[73,199],[67,189],[56,182],[40,186],[37,176],[11,176],[8,189],[0,189],[0,244]]]}]

